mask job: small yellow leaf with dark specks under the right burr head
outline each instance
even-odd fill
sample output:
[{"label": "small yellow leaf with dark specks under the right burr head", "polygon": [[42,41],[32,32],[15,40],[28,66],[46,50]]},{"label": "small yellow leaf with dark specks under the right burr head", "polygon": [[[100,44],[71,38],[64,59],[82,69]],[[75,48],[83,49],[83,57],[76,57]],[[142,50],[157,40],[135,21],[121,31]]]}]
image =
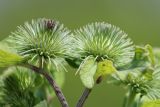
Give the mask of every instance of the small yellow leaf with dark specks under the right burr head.
[{"label": "small yellow leaf with dark specks under the right burr head", "polygon": [[107,75],[110,75],[112,73],[116,72],[115,67],[113,66],[113,62],[110,60],[103,60],[98,62],[97,71],[95,74],[95,80],[97,80],[99,77],[105,77]]}]

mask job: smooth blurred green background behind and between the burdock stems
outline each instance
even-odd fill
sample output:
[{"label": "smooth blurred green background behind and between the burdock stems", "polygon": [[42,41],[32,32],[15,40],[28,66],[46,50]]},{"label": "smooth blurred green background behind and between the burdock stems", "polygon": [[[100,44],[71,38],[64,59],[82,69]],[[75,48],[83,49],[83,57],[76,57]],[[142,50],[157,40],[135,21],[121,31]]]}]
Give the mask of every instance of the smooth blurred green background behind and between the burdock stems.
[{"label": "smooth blurred green background behind and between the burdock stems", "polygon": [[[160,0],[0,0],[0,39],[25,21],[46,17],[71,30],[90,22],[119,26],[136,44],[160,46]],[[73,71],[66,73],[63,91],[74,107],[83,86]],[[124,90],[105,83],[94,88],[85,107],[121,107]],[[60,107],[57,99],[53,107]]]}]

